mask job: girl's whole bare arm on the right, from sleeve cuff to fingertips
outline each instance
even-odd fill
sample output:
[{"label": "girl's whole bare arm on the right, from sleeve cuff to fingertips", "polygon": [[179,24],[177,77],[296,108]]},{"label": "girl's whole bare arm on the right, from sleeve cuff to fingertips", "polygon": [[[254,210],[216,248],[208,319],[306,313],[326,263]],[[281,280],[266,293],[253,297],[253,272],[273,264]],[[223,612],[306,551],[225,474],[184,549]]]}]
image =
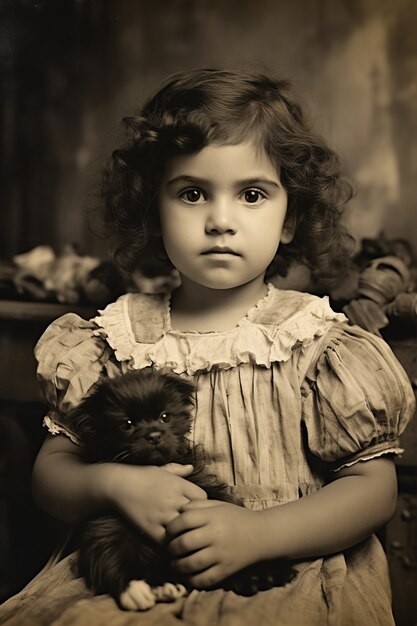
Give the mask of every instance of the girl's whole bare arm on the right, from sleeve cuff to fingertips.
[{"label": "girl's whole bare arm on the right, from sleeve cuff to fingertips", "polygon": [[390,458],[358,462],[316,493],[265,511],[191,502],[167,528],[170,550],[193,585],[209,587],[256,561],[318,557],[353,546],[392,517],[396,496]]}]

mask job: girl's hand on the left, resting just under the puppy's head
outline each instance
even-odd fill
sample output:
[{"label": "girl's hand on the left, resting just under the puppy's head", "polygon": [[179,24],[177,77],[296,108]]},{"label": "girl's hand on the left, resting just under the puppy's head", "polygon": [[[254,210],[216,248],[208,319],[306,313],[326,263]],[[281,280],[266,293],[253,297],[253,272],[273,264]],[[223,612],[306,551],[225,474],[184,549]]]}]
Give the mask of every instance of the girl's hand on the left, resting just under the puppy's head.
[{"label": "girl's hand on the left, resting just under the puppy's head", "polygon": [[162,467],[109,464],[106,493],[110,503],[158,543],[166,526],[190,500],[207,498],[205,491],[185,480],[191,465]]}]

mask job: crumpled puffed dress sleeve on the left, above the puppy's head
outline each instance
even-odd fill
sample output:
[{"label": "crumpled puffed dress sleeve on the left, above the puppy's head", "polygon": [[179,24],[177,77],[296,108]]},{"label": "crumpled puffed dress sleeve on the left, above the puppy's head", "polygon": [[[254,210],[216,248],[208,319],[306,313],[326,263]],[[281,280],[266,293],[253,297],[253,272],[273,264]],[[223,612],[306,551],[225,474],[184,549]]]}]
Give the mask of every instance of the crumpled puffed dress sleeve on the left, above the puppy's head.
[{"label": "crumpled puffed dress sleeve on the left, above the puppy's head", "polygon": [[94,322],[67,313],[48,326],[35,347],[37,379],[49,407],[44,426],[74,443],[77,436],[65,426],[66,413],[104,373],[117,367],[112,348],[95,334],[96,329]]}]

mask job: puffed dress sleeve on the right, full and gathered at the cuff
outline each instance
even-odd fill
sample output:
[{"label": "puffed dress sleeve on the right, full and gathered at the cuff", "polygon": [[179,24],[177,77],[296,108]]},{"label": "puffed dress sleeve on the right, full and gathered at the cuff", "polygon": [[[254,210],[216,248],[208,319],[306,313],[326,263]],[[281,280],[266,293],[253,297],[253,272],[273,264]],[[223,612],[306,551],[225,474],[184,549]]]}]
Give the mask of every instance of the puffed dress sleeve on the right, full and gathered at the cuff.
[{"label": "puffed dress sleeve on the right, full and gathered at the cuff", "polygon": [[414,413],[409,379],[389,346],[357,326],[336,323],[302,385],[309,451],[338,470],[401,454]]}]

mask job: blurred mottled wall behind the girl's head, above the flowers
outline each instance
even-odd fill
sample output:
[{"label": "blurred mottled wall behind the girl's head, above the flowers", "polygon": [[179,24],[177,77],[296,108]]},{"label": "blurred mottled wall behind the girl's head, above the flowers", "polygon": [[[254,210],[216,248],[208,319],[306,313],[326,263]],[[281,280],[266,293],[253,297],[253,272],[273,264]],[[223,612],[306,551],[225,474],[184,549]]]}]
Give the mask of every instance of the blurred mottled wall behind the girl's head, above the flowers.
[{"label": "blurred mottled wall behind the girl's head, above the flowers", "polygon": [[291,78],[357,187],[359,236],[417,249],[415,0],[0,0],[0,256],[88,227],[120,118],[168,74]]}]

